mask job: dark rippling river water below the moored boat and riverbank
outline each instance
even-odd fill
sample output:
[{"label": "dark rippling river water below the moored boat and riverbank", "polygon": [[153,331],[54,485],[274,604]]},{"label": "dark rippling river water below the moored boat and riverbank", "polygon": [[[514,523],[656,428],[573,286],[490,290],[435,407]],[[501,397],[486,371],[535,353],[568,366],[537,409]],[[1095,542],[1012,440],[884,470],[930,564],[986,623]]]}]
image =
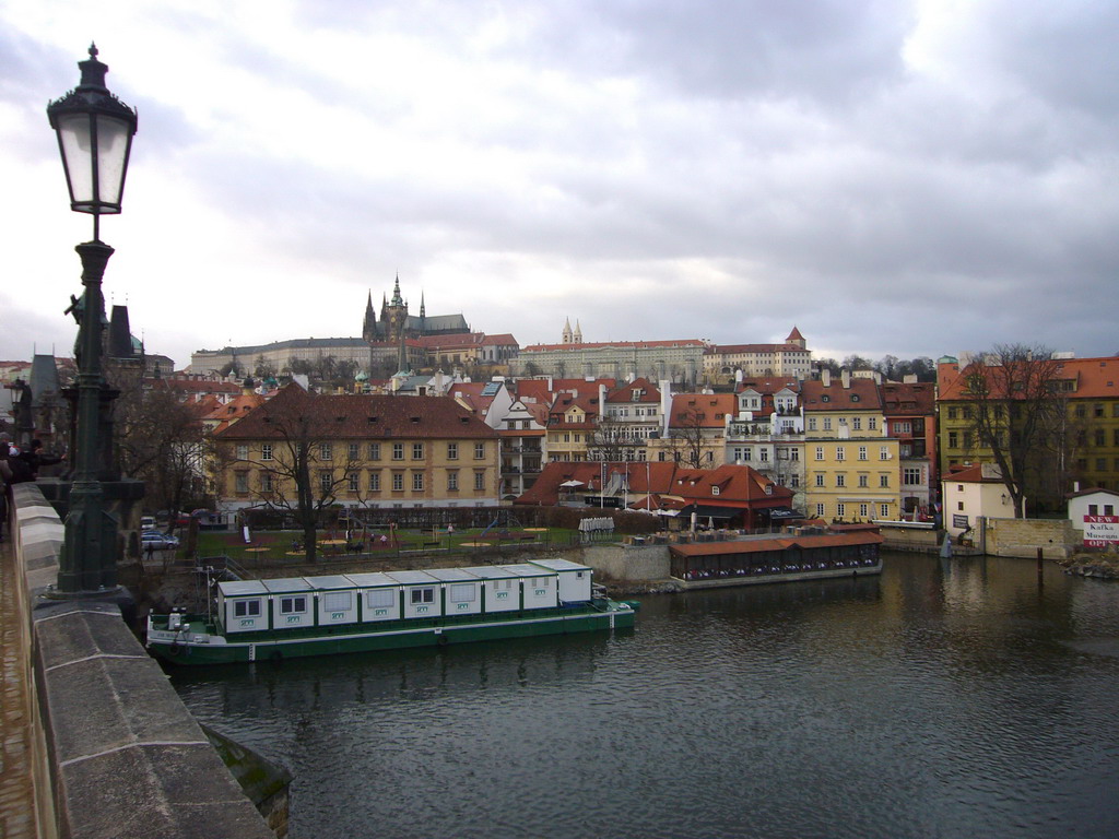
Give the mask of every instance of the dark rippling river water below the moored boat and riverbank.
[{"label": "dark rippling river water below the moored boat and riverbank", "polygon": [[1119,836],[1119,584],[886,554],[634,630],[179,669],[292,839]]}]

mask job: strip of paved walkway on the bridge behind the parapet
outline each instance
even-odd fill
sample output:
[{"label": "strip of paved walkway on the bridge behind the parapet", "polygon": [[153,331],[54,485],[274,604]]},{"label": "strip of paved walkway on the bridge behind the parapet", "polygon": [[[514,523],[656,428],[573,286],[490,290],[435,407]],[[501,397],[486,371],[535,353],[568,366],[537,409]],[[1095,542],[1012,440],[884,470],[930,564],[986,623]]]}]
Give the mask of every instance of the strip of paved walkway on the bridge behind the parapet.
[{"label": "strip of paved walkway on the bridge behind the parapet", "polygon": [[23,678],[27,651],[16,615],[13,592],[18,583],[12,566],[11,541],[6,539],[0,544],[0,656],[3,659],[0,664],[3,679],[0,690],[0,837],[36,839],[31,717],[28,685]]}]

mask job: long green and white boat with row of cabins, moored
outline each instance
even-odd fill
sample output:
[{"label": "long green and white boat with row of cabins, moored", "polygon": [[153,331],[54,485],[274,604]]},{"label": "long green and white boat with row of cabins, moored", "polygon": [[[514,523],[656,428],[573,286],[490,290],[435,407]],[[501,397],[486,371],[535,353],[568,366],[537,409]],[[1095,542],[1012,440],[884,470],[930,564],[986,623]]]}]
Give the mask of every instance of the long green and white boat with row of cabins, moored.
[{"label": "long green and white boat with row of cabins, moored", "polygon": [[540,559],[223,582],[209,615],[149,615],[148,648],[176,664],[280,662],[632,626],[637,604],[596,596],[592,574]]}]

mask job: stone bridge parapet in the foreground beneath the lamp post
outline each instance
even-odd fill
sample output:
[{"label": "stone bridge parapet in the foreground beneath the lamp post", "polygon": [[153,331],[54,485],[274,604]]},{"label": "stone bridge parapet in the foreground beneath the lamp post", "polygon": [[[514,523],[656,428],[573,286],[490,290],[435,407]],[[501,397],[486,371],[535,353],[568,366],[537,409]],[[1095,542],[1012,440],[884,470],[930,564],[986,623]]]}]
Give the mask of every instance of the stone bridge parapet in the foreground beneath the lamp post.
[{"label": "stone bridge parapet in the foreground beneath the lamp post", "polygon": [[[63,526],[35,484],[15,488],[13,555],[28,598],[28,685],[45,766],[45,823],[63,839],[274,839],[121,618],[98,601],[44,598]],[[34,747],[34,745],[32,745]]]}]

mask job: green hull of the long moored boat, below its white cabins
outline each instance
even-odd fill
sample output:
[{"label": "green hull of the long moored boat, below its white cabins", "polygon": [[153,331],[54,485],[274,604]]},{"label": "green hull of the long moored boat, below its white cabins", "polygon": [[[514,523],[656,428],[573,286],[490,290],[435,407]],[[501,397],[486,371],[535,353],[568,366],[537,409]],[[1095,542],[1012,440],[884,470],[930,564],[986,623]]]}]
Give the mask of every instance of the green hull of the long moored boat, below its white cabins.
[{"label": "green hull of the long moored boat, below its white cabins", "polygon": [[[546,612],[546,613],[544,613]],[[580,609],[549,609],[540,614],[517,613],[511,618],[493,615],[474,620],[394,621],[391,626],[376,629],[321,628],[302,634],[267,632],[233,640],[200,631],[199,623],[187,622],[188,629],[170,632],[151,620],[148,648],[159,658],[175,664],[206,666],[280,662],[310,656],[338,656],[379,650],[403,650],[421,647],[497,641],[536,635],[562,635],[579,632],[609,631],[631,628],[634,611],[627,603],[604,601]]]}]

